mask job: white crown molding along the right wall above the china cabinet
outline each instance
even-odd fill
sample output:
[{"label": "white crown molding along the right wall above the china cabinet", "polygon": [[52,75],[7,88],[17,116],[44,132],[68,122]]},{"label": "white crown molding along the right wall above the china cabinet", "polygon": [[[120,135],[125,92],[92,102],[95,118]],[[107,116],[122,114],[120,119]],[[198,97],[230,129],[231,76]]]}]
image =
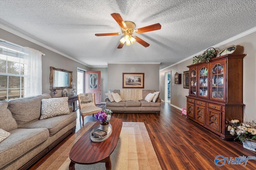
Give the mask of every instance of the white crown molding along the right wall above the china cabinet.
[{"label": "white crown molding along the right wall above the china cabinet", "polygon": [[[247,31],[244,31],[243,33],[240,33],[240,34],[238,34],[238,35],[236,35],[236,36],[234,36],[234,37],[231,37],[230,39],[227,39],[227,40],[225,40],[225,41],[222,41],[221,43],[218,43],[218,44],[216,44],[216,45],[213,45],[212,47],[213,47],[213,48],[220,47],[220,46],[225,45],[225,44],[227,44],[227,43],[230,43],[230,42],[232,42],[232,41],[234,41],[234,40],[236,40],[236,39],[239,39],[239,38],[242,38],[242,37],[244,37],[244,36],[246,36],[246,35],[249,35],[250,33],[254,33],[255,31],[256,31],[256,27],[254,27],[254,28],[252,28],[252,29],[249,29],[249,30],[247,30]],[[210,47],[209,47],[209,48],[210,48]],[[206,48],[206,49],[208,49],[208,48]],[[187,61],[187,60],[189,60],[189,59],[192,59],[194,56],[198,56],[198,55],[204,53],[204,51],[205,51],[205,50],[200,51],[200,52],[198,52],[198,53],[196,53],[196,54],[194,54],[194,55],[191,55],[190,57],[187,57],[186,59],[183,59],[183,60],[178,61],[177,63],[174,63],[174,64],[172,64],[172,65],[170,65],[170,66],[167,66],[167,67],[165,67],[165,68],[162,68],[160,71],[162,71],[162,70],[164,70],[164,69],[166,69],[166,68],[175,66],[175,65],[177,65],[177,64],[180,64],[180,63],[182,63],[182,62],[184,62],[184,61]]]}]

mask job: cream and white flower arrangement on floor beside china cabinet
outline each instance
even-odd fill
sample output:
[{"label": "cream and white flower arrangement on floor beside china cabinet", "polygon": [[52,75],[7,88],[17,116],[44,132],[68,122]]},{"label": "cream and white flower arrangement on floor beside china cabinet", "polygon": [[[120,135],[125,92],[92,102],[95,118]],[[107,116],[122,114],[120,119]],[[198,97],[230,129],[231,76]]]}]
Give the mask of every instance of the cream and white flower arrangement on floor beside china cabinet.
[{"label": "cream and white flower arrangement on floor beside china cabinet", "polygon": [[226,122],[228,123],[228,131],[230,131],[231,135],[236,136],[235,139],[239,139],[241,142],[256,142],[256,123],[254,121],[240,122],[239,120],[234,119]]}]

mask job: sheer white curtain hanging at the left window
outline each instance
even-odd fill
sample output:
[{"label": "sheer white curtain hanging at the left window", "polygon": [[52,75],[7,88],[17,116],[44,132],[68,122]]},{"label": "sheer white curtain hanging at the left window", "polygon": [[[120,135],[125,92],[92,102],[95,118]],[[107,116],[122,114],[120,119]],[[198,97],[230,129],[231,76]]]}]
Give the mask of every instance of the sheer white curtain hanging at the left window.
[{"label": "sheer white curtain hanging at the left window", "polygon": [[24,97],[42,94],[43,53],[25,47],[24,55]]}]

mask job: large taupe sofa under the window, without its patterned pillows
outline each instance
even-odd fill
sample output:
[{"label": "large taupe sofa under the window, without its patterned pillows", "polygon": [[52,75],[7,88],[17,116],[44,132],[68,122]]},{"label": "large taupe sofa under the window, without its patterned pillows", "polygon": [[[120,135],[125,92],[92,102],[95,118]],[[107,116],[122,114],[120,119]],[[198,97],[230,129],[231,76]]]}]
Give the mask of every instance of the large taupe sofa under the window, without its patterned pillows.
[{"label": "large taupe sofa under the window, without its patterned pillows", "polygon": [[76,129],[76,112],[39,120],[50,94],[0,102],[0,170],[26,169]]}]

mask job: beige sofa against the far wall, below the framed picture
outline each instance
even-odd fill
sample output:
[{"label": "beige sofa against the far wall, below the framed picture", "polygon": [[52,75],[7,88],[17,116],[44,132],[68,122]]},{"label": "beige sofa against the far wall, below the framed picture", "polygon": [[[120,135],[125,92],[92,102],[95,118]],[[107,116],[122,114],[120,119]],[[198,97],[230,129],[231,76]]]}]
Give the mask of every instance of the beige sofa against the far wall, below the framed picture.
[{"label": "beige sofa against the far wall, below the framed picture", "polygon": [[[156,102],[144,100],[149,93],[154,93],[156,90],[142,90],[142,100],[138,101],[126,100],[120,90],[109,90],[109,93],[111,92],[118,93],[122,98],[121,102],[110,102],[108,98],[105,98],[106,109],[112,110],[113,113],[160,113],[161,99],[159,97]],[[133,90],[129,90],[129,92],[133,93]]]}]

